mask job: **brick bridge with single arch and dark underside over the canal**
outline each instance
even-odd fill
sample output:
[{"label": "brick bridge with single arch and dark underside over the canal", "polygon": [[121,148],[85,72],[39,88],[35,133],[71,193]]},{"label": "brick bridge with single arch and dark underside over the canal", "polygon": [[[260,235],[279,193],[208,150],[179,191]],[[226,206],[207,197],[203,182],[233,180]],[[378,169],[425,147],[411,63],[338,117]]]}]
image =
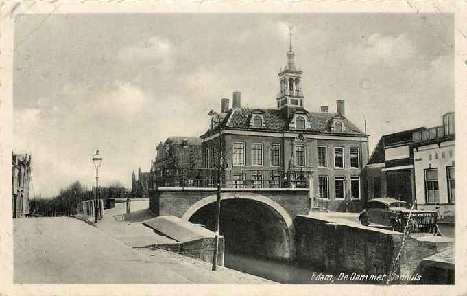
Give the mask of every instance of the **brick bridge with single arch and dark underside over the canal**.
[{"label": "brick bridge with single arch and dark underside over the canal", "polygon": [[[160,187],[150,207],[160,216],[178,216],[214,229],[215,188]],[[293,260],[297,215],[308,214],[308,188],[223,188],[220,234],[226,251]]]}]

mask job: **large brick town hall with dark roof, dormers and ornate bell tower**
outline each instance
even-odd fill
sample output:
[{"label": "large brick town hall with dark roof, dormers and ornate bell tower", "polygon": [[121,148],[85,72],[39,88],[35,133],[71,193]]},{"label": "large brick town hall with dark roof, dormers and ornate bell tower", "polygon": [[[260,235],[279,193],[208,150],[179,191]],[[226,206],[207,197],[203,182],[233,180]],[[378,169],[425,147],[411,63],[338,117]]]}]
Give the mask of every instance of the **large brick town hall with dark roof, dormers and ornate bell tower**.
[{"label": "large brick town hall with dark roof, dormers and ornate bell tower", "polygon": [[[357,211],[366,192],[361,172],[368,160],[368,135],[345,117],[344,100],[337,100],[335,113],[328,106],[319,112],[305,109],[291,38],[286,55],[287,65],[278,73],[276,108],[242,107],[241,93],[234,92],[232,108],[223,98],[220,112],[211,110],[210,126],[200,136],[202,166],[221,163],[221,139],[227,163],[223,186],[307,186],[314,205]],[[215,186],[215,178],[206,179],[206,185]]]}]

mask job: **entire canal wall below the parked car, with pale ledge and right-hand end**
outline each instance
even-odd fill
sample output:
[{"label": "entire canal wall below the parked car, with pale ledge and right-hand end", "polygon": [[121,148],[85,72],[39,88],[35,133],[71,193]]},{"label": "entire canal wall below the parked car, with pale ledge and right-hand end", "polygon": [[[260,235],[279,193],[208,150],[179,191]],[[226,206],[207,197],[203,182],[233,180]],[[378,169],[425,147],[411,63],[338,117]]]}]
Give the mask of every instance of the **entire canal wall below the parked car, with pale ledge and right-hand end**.
[{"label": "entire canal wall below the parked car, with pale ledge and right-hand end", "polygon": [[[398,258],[403,234],[387,229],[365,227],[324,217],[297,216],[296,260],[300,264],[335,273],[358,275],[390,275]],[[394,275],[407,277],[400,284],[420,284],[411,281],[422,275],[422,260],[447,247],[454,240],[440,236],[409,236],[395,264]],[[411,277],[414,275],[415,277]],[[387,277],[381,282],[385,282]]]}]

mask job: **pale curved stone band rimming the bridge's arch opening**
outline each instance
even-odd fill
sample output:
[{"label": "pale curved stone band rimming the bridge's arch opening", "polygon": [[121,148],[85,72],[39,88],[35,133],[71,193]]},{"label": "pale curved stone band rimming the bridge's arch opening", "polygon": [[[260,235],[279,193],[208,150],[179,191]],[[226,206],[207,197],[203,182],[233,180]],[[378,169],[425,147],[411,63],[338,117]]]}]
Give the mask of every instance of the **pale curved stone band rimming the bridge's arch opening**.
[{"label": "pale curved stone band rimming the bridge's arch opening", "polygon": [[[251,192],[238,192],[241,194],[241,196],[236,197],[236,193],[232,194],[222,194],[222,201],[228,201],[228,200],[247,200],[247,201],[256,201],[257,203],[261,203],[265,205],[266,207],[269,207],[272,209],[274,212],[279,214],[281,218],[283,218],[283,222],[285,223],[285,231],[286,231],[286,245],[287,245],[287,252],[289,253],[289,258],[288,260],[294,260],[295,257],[295,246],[294,246],[294,236],[295,236],[295,227],[294,223],[292,221],[291,216],[289,213],[282,207],[282,205],[276,203],[276,201],[273,201],[271,198],[268,198],[266,196],[263,196],[261,194],[255,194]],[[211,196],[207,196],[206,198],[201,199],[200,201],[197,201],[196,203],[193,203],[191,207],[187,209],[186,212],[184,212],[182,219],[184,220],[189,220],[191,216],[193,216],[198,210],[202,209],[202,207],[209,205],[211,203],[215,203],[217,200],[217,196],[215,194]]]}]

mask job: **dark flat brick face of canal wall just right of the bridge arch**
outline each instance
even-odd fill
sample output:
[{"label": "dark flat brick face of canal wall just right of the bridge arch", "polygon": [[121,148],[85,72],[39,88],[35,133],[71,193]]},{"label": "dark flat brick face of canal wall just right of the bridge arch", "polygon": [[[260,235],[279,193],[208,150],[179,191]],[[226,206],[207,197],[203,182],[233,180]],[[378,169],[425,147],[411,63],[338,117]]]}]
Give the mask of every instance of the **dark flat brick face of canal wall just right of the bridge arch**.
[{"label": "dark flat brick face of canal wall just right of the bridge arch", "polygon": [[297,261],[335,272],[383,275],[390,273],[401,234],[387,234],[296,217]]}]

